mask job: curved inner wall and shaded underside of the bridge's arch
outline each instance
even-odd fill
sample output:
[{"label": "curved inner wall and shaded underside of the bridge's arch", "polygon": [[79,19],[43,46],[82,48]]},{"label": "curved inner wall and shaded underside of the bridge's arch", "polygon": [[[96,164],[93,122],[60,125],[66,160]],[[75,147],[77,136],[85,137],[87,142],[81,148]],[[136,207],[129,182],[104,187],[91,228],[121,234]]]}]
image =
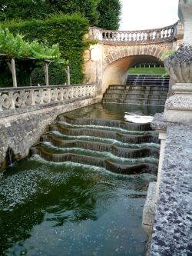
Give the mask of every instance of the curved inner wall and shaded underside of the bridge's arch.
[{"label": "curved inner wall and shaded underside of the bridge's arch", "polygon": [[109,85],[125,84],[129,68],[141,63],[154,63],[164,66],[164,62],[160,58],[156,58],[151,55],[131,55],[120,58],[108,65],[108,67],[104,70],[102,93],[106,91]]}]

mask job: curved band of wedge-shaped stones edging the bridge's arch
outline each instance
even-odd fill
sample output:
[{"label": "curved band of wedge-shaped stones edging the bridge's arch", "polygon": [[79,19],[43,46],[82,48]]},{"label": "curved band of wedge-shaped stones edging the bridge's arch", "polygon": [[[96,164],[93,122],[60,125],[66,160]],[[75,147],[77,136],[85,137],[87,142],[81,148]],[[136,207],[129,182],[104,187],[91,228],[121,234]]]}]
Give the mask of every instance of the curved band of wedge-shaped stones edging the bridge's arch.
[{"label": "curved band of wedge-shaped stones edging the bridge's arch", "polygon": [[[168,49],[167,49],[168,50]],[[121,49],[117,49],[115,52],[108,55],[104,58],[104,69],[111,65],[112,62],[118,61],[121,58],[133,56],[133,55],[150,55],[155,58],[161,59],[166,50],[158,48],[154,45],[133,45],[131,47],[124,47]]]}]

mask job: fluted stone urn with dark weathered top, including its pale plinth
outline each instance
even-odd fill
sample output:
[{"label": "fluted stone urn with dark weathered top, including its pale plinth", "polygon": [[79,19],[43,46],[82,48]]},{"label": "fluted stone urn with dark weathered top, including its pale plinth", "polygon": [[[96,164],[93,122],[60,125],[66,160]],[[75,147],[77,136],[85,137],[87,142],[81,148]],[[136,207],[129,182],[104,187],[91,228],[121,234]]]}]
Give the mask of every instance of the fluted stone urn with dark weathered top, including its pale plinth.
[{"label": "fluted stone urn with dark weathered top, including its pale plinth", "polygon": [[192,124],[192,45],[181,45],[164,62],[170,78],[176,81],[174,95],[165,103],[164,119]]}]

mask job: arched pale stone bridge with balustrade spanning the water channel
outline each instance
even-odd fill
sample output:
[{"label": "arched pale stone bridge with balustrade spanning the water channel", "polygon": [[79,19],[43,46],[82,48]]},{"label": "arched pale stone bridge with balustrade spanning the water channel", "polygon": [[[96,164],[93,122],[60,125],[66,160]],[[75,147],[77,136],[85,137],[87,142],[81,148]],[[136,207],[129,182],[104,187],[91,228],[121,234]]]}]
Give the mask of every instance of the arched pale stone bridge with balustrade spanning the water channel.
[{"label": "arched pale stone bridge with balustrade spanning the water channel", "polygon": [[96,45],[84,52],[84,81],[96,83],[103,94],[110,84],[124,84],[127,70],[134,65],[152,62],[163,65],[165,52],[176,50],[182,43],[180,22],[164,28],[139,31],[109,31],[90,28],[88,38]]}]

